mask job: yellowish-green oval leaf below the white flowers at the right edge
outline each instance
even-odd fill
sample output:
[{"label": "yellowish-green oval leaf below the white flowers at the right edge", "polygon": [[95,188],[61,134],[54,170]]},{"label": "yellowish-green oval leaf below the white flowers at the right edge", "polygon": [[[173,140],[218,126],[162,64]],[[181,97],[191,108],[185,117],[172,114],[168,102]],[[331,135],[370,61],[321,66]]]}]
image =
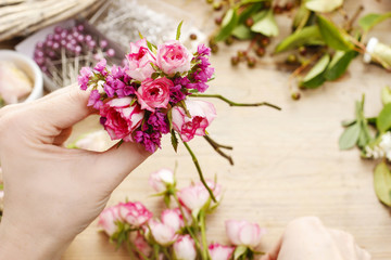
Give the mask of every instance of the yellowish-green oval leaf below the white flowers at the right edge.
[{"label": "yellowish-green oval leaf below the white flowers at the right edge", "polygon": [[375,169],[374,185],[379,200],[391,207],[391,172],[384,161]]}]

